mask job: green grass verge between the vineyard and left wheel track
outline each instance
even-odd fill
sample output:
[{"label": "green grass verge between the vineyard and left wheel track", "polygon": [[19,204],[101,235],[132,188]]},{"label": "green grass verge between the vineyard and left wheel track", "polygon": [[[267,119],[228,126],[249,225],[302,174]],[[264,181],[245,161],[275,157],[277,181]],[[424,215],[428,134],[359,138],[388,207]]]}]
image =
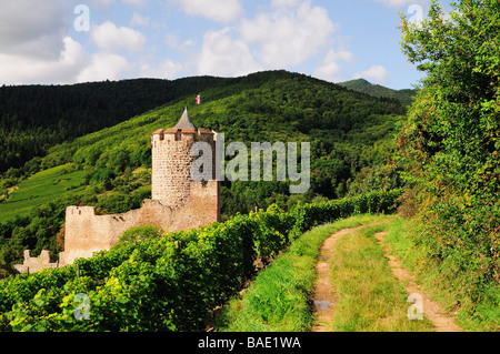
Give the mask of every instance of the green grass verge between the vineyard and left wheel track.
[{"label": "green grass verge between the vineyard and left wheel track", "polygon": [[384,220],[358,215],[304,233],[229,302],[216,318],[219,332],[307,332],[314,324],[311,296],[316,263],[326,239],[342,229]]}]

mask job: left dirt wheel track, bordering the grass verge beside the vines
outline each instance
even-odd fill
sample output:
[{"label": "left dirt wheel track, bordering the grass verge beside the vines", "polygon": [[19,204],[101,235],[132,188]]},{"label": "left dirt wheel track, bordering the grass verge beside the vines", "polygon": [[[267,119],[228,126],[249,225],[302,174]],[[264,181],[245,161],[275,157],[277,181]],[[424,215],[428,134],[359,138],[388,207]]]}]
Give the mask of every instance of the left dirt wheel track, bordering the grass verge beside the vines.
[{"label": "left dirt wheel track, bordering the grass verge beside the vines", "polygon": [[356,229],[344,229],[332,234],[321,246],[319,262],[316,265],[317,281],[314,301],[317,325],[311,328],[312,332],[329,332],[328,325],[333,321],[334,307],[338,299],[331,292],[330,283],[330,260],[337,240],[351,233]]}]

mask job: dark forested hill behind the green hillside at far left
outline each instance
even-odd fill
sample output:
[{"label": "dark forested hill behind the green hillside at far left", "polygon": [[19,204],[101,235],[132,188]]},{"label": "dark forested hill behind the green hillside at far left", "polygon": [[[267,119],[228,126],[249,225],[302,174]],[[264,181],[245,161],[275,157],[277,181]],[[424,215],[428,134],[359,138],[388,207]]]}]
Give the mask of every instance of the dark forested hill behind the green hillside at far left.
[{"label": "dark forested hill behind the green hillside at far left", "polygon": [[73,85],[3,85],[0,88],[0,173],[22,168],[58,143],[116,125],[222,82],[223,79],[199,77],[174,81],[137,79]]}]

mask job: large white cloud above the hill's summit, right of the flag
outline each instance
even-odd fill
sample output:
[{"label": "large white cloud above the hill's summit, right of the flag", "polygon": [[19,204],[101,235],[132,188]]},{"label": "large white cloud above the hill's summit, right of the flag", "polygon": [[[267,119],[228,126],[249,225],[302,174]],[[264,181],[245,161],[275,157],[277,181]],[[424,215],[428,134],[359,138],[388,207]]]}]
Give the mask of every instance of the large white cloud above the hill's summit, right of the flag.
[{"label": "large white cloud above the hill's summit, right of the flag", "polygon": [[[296,8],[260,13],[244,19],[240,32],[244,41],[258,47],[258,58],[270,69],[290,69],[312,58],[330,41],[334,24],[324,8],[310,1],[286,1]],[[274,2],[278,3],[278,2]]]}]

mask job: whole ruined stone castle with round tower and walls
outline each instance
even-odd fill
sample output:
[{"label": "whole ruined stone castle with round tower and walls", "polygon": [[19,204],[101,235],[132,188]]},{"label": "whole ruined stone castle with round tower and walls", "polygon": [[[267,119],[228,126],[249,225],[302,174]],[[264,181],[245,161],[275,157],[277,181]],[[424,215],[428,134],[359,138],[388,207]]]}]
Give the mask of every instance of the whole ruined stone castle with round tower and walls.
[{"label": "whole ruined stone castle with round tower and walls", "polygon": [[196,182],[191,178],[191,165],[196,159],[203,159],[191,155],[191,146],[198,141],[210,144],[214,152],[217,133],[197,129],[186,109],[176,127],[157,130],[151,135],[151,200],[144,200],[141,209],[116,215],[97,215],[94,206],[68,206],[64,251],[59,254],[59,263],[49,263],[49,251],[31,257],[27,250],[23,264],[14,265],[16,270],[37,272],[72,264],[78,257],[90,257],[111,249],[122,233],[133,226],[150,224],[160,226],[163,232],[176,232],[220,221],[214,169],[209,181]]}]

